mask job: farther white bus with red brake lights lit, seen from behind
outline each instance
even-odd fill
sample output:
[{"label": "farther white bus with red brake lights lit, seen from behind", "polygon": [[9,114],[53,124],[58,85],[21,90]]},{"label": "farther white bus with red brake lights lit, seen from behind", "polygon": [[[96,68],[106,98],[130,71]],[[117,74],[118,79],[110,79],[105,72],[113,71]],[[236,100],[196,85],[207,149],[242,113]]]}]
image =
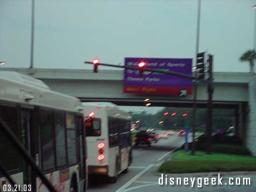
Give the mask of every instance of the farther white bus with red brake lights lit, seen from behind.
[{"label": "farther white bus with red brake lights lit, seen from behind", "polygon": [[132,162],[131,116],[109,102],[85,102],[88,174],[115,183]]}]

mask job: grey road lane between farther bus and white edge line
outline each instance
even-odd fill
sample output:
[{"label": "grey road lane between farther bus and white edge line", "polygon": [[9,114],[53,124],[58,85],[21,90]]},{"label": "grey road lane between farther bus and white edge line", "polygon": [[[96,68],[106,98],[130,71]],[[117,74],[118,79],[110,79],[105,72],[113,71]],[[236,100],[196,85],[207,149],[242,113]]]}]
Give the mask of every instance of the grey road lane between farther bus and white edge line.
[{"label": "grey road lane between farther bus and white edge line", "polygon": [[[133,179],[141,171],[145,170],[151,164],[156,166],[160,164],[158,161],[174,148],[183,144],[185,137],[178,135],[168,136],[168,139],[160,139],[158,143],[153,143],[151,147],[138,146],[133,149],[133,163],[129,167],[127,174],[120,174],[118,182],[115,184],[108,184],[104,181],[97,181],[91,184],[89,192],[115,192],[120,187],[127,184],[128,181]],[[119,191],[118,191],[119,192]]]}]

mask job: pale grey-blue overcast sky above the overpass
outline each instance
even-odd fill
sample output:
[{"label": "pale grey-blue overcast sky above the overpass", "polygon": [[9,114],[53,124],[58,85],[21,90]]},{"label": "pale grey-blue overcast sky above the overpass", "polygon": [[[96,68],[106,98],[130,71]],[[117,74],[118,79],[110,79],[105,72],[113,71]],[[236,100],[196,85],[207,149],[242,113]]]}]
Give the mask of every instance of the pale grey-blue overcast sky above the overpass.
[{"label": "pale grey-blue overcast sky above the overpass", "polygon": [[[248,72],[256,0],[202,0],[199,51],[214,71]],[[31,0],[0,0],[1,67],[29,67]],[[193,58],[197,0],[35,0],[34,67],[88,69],[85,60]],[[102,67],[100,67],[102,68]],[[113,69],[113,68],[111,68]]]}]

